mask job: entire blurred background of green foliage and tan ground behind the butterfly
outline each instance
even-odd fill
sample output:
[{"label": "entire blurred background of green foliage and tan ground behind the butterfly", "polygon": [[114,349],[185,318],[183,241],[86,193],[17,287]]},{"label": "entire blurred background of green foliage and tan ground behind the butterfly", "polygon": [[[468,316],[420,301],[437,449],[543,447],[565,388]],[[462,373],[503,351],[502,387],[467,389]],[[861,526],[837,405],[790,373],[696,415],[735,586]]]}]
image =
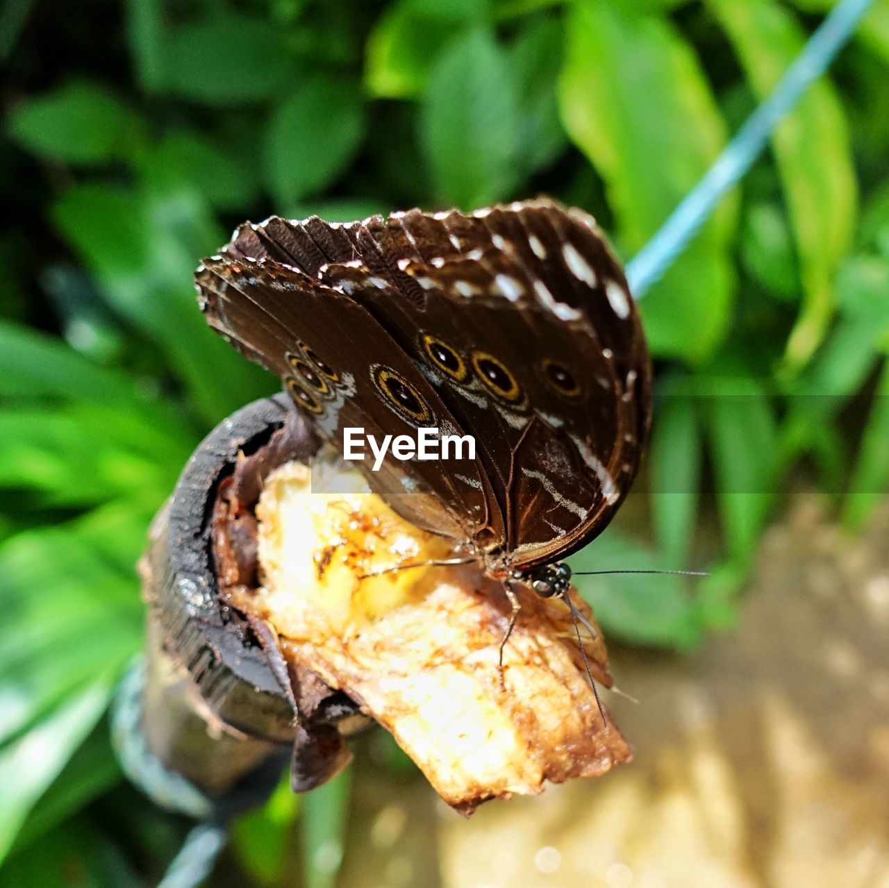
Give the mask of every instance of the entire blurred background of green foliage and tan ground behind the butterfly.
[{"label": "entire blurred background of green foliage and tan ground behind the butterfly", "polygon": [[[156,884],[189,824],[106,711],[134,564],[276,390],[191,274],[244,219],[548,194],[629,260],[830,0],[6,0],[0,883]],[[214,885],[889,885],[889,0],[642,302],[643,476],[596,578],[635,764],[446,810],[378,732],[239,820]],[[882,788],[882,791],[881,791]]]}]

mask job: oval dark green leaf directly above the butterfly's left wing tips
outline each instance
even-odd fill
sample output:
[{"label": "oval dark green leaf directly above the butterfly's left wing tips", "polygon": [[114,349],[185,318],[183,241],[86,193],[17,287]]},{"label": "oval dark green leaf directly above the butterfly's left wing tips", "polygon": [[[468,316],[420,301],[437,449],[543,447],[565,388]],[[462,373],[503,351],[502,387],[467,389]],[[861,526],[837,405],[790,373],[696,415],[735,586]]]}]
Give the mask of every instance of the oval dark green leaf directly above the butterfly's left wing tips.
[{"label": "oval dark green leaf directly above the butterfly's left wing tips", "polygon": [[364,139],[364,108],[354,85],[328,77],[303,80],[268,124],[265,170],[282,204],[327,188]]}]

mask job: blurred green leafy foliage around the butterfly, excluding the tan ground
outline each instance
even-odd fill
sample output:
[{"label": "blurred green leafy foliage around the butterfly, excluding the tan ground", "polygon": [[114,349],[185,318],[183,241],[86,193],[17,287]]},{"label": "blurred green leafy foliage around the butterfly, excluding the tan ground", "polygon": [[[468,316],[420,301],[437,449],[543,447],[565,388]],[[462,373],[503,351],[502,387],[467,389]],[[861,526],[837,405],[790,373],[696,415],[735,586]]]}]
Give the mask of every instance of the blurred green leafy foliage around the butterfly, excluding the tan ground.
[{"label": "blurred green leafy foliage around the butterfly, excluding the tan ground", "polygon": [[[594,212],[629,258],[830,5],[8,0],[0,875],[145,884],[182,835],[121,785],[101,720],[141,644],[151,516],[199,438],[276,388],[205,327],[197,260],[273,212],[538,193]],[[610,530],[574,564],[713,573],[590,582],[615,636],[682,648],[731,625],[792,476],[851,530],[889,483],[887,65],[877,0],[644,300],[658,410],[634,514],[651,533]],[[345,799],[342,781],[299,805],[284,790],[244,819],[244,879],[292,873],[306,808],[304,877],[331,884]]]}]

